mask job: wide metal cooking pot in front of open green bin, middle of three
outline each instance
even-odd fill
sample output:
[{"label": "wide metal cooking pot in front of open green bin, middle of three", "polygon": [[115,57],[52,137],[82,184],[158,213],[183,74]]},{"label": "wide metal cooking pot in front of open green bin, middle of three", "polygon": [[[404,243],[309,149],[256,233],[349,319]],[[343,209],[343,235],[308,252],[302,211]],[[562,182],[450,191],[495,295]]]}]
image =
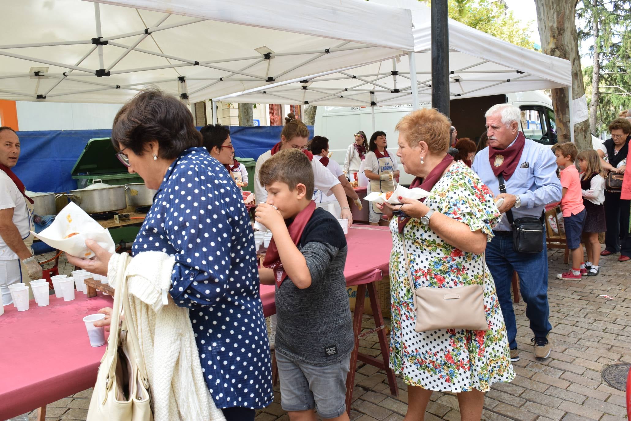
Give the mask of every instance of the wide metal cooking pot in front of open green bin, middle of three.
[{"label": "wide metal cooking pot in front of open green bin, middle of three", "polygon": [[127,207],[125,186],[109,186],[98,179],[85,189],[69,191],[66,196],[86,213],[110,212]]}]

